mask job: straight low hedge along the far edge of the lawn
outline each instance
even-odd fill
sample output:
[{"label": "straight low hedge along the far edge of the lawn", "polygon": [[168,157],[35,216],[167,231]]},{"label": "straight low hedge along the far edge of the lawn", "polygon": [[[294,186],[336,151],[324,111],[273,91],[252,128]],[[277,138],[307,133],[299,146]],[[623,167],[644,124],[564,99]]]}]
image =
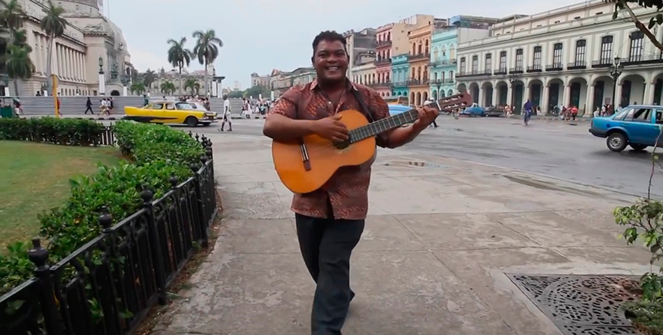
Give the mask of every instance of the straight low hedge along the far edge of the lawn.
[{"label": "straight low hedge along the far edge of the lawn", "polygon": [[31,140],[65,145],[98,144],[105,126],[92,120],[0,119],[0,140]]}]

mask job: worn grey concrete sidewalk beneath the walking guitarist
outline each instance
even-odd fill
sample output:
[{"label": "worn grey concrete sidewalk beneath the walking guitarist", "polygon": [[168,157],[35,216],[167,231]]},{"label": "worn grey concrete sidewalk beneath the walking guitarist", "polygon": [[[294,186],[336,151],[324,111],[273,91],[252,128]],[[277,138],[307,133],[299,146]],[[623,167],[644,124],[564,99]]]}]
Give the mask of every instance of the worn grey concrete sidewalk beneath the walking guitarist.
[{"label": "worn grey concrete sidewalk beneath the walking guitarist", "polygon": [[[304,335],[314,285],[270,141],[213,135],[223,232],[156,334]],[[486,165],[382,150],[343,334],[561,334],[505,273],[641,274],[611,217],[632,199]]]}]

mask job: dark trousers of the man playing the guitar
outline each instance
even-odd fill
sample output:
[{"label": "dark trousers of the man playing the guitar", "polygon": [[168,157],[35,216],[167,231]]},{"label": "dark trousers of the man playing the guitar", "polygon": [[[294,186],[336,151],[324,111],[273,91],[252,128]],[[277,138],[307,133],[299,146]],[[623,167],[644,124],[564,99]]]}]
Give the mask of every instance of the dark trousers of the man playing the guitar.
[{"label": "dark trousers of the man playing the guitar", "polygon": [[311,218],[295,214],[304,262],[318,285],[311,309],[312,335],[340,335],[350,300],[350,255],[364,232],[364,220]]}]

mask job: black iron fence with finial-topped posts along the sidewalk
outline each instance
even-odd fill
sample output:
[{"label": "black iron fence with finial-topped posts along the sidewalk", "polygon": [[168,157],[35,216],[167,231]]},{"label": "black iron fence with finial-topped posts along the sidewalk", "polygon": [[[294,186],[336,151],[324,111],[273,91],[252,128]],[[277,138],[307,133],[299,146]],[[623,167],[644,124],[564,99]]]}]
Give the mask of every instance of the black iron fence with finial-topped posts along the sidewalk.
[{"label": "black iron fence with finial-topped posts along the sidewalk", "polygon": [[[114,143],[110,128],[102,138]],[[116,225],[103,208],[103,233],[57,264],[33,239],[35,276],[0,297],[0,334],[131,334],[152,306],[165,304],[168,285],[207,246],[218,209],[211,142],[202,137],[202,145],[207,154],[191,166],[193,177],[172,177],[156,200],[143,186],[142,209]]]}]

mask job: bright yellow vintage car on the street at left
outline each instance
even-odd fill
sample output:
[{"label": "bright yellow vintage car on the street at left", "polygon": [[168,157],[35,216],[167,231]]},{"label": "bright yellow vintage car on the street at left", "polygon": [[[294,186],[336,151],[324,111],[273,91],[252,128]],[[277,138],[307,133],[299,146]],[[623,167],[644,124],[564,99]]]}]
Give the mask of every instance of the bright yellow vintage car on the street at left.
[{"label": "bright yellow vintage car on the street at left", "polygon": [[124,119],[153,124],[186,124],[190,127],[209,126],[216,122],[216,113],[199,104],[181,101],[153,101],[144,107],[124,107]]}]

